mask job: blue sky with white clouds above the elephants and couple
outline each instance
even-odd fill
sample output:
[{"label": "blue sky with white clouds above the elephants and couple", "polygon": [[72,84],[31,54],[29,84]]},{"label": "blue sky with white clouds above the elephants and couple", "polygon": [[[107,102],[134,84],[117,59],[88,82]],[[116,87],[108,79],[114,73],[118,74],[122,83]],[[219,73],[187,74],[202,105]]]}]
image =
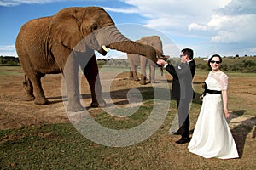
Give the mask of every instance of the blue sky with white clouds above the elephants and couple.
[{"label": "blue sky with white clouds above the elephants and couple", "polygon": [[[160,33],[169,39],[165,54],[172,54],[171,46],[193,48],[195,57],[256,54],[255,0],[0,0],[0,55],[16,56],[15,38],[28,20],[72,6],[100,6],[117,26]],[[132,39],[130,31],[123,33]]]}]

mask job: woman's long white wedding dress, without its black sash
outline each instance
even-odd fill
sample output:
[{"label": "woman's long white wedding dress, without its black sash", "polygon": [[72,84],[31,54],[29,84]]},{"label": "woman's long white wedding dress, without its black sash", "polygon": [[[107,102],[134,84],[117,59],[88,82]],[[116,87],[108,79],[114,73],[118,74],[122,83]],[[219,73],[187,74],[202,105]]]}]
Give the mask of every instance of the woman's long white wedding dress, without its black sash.
[{"label": "woman's long white wedding dress, without its black sash", "polygon": [[[228,76],[222,71],[215,73],[211,71],[206,83],[208,89],[227,90]],[[207,93],[204,96],[200,115],[188,148],[190,152],[205,158],[239,157],[230,127],[224,117],[221,94]]]}]

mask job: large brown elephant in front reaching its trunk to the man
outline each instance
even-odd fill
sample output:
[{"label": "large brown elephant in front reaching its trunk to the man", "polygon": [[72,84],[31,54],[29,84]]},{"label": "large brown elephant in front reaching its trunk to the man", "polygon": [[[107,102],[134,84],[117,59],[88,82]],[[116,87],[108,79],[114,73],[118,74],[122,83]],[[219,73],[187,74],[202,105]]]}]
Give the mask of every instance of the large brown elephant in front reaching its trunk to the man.
[{"label": "large brown elephant in front reaching its trunk to the man", "polygon": [[27,99],[39,105],[49,103],[41,77],[62,73],[67,85],[68,111],[84,109],[79,101],[79,65],[90,85],[90,105],[106,104],[94,50],[102,55],[107,54],[108,48],[141,54],[153,62],[161,55],[151,46],[124,37],[108,13],[99,7],[64,8],[53,16],[28,21],[20,28],[15,46],[25,72]]}]

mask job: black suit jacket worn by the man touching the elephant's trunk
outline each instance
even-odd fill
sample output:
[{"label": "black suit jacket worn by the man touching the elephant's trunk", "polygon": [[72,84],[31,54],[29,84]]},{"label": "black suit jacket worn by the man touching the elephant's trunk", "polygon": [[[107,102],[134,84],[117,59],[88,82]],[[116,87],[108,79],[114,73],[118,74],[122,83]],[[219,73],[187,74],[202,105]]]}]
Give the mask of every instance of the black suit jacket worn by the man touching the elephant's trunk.
[{"label": "black suit jacket worn by the man touching the elephant's trunk", "polygon": [[167,65],[166,71],[173,77],[172,98],[191,101],[195,97],[192,88],[192,79],[195,75],[195,60],[192,59],[189,63],[183,63],[178,66]]}]

